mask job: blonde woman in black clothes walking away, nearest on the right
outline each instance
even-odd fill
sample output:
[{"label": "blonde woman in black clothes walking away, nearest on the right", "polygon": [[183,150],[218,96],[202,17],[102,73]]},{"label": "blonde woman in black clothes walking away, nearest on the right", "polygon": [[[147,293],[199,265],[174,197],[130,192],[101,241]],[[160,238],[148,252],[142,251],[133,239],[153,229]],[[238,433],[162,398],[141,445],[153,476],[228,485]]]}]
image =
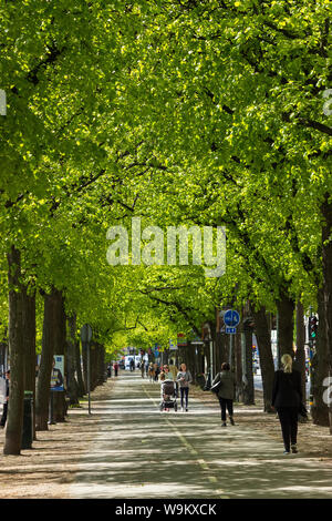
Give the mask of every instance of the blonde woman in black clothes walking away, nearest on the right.
[{"label": "blonde woman in black clothes walking away, nearest on the right", "polygon": [[292,357],[283,355],[283,368],[274,372],[272,407],[278,412],[284,454],[298,452],[298,415],[302,402],[301,374],[292,368]]}]

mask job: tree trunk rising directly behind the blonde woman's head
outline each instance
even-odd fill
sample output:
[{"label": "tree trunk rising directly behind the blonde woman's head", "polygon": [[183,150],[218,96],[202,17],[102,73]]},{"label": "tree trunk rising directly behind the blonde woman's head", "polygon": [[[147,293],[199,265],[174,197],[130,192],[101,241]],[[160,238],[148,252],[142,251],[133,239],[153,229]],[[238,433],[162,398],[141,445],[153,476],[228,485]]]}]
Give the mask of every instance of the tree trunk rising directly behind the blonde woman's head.
[{"label": "tree trunk rising directly behind the blonde woman's head", "polygon": [[278,355],[279,365],[282,355],[293,356],[294,300],[283,293],[277,302],[278,307]]}]

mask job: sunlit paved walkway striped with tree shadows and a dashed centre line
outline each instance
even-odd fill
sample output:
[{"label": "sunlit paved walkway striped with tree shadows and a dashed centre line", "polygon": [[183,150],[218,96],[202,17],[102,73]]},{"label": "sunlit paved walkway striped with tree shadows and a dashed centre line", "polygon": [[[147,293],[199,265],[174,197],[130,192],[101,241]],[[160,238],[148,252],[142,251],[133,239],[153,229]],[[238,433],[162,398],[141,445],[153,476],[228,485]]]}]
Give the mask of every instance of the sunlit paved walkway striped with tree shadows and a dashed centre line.
[{"label": "sunlit paved walkway striped with tree shadows and a dashed centre line", "polygon": [[160,412],[159,392],[158,384],[127,372],[108,400],[92,402],[100,432],[72,498],[332,498],[331,466],[283,456],[281,442],[241,427],[240,413],[237,426],[222,429],[219,406],[189,399],[188,412]]}]

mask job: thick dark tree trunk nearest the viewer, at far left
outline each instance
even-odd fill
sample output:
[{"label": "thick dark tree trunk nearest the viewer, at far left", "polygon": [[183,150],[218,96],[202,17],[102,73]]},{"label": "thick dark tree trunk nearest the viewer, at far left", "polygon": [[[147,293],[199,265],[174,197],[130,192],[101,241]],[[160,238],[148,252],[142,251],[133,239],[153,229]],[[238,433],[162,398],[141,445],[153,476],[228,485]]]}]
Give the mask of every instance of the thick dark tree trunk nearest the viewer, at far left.
[{"label": "thick dark tree trunk nearest the viewer, at far left", "polygon": [[9,284],[8,339],[10,353],[10,389],[3,453],[21,452],[24,397],[23,298],[20,283],[21,255],[12,246],[7,255]]}]

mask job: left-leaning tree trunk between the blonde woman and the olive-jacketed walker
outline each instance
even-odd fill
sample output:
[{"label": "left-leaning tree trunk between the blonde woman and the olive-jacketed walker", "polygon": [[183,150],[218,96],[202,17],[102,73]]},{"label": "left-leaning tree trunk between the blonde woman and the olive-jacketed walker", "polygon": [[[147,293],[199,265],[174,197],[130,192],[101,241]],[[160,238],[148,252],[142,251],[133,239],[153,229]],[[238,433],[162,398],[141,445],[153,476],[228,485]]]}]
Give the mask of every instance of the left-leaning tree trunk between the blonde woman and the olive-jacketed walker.
[{"label": "left-leaning tree trunk between the blonde woman and the olive-jacketed walker", "polygon": [[271,348],[271,331],[266,308],[262,306],[257,311],[251,309],[255,321],[255,335],[258,343],[261,380],[263,389],[264,411],[272,412],[272,388],[274,378],[274,364]]}]

